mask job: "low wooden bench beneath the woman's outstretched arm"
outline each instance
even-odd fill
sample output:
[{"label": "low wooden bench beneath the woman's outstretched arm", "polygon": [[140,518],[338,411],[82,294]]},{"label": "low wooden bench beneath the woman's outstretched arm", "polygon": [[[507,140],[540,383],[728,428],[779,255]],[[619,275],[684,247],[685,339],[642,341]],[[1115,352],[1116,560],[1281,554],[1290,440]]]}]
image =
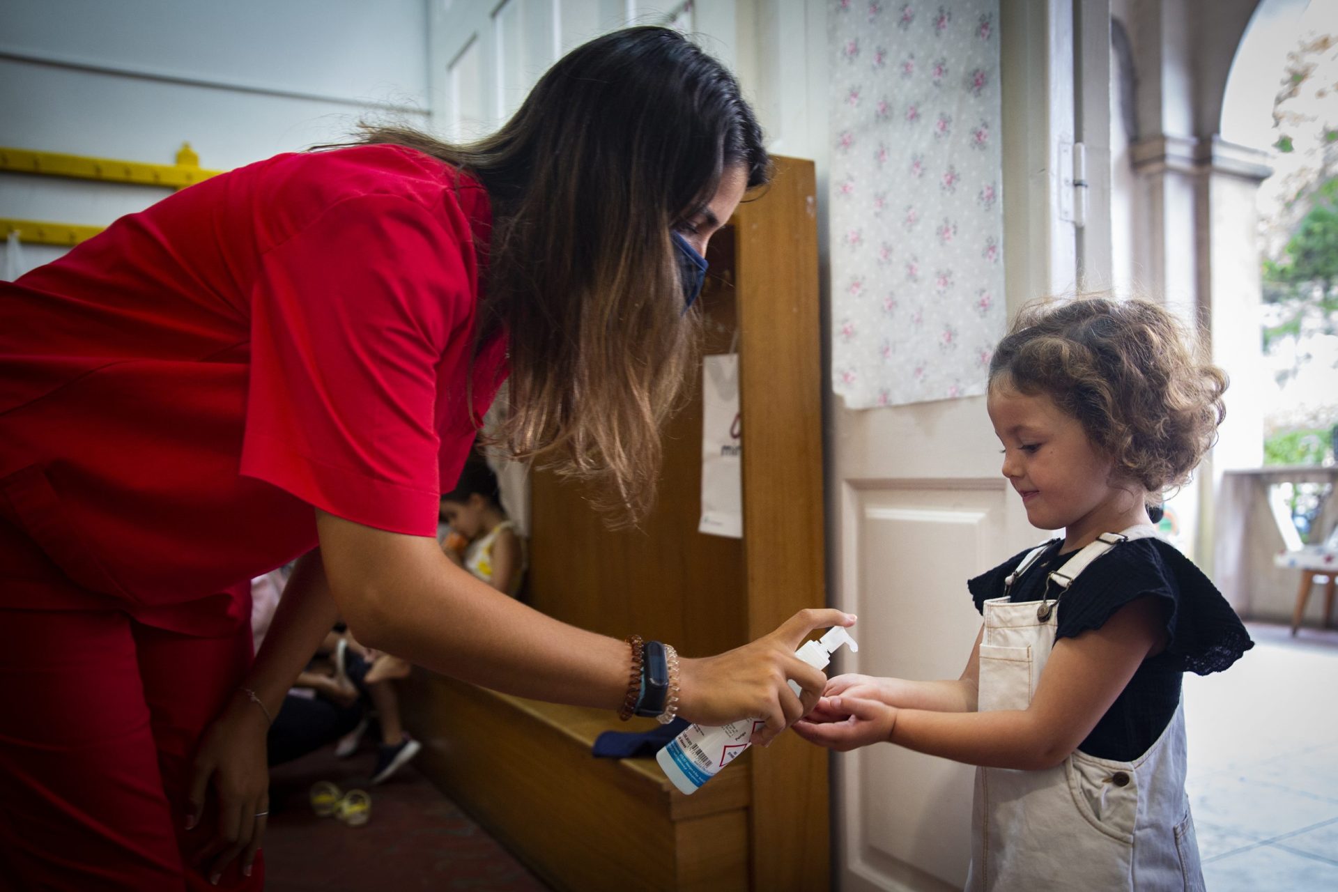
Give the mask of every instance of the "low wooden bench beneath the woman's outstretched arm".
[{"label": "low wooden bench beneath the woman's outstretched arm", "polygon": [[653,758],[594,758],[602,710],[508,697],[416,670],[403,686],[419,770],[557,889],[748,888],[747,754],[684,796]]}]

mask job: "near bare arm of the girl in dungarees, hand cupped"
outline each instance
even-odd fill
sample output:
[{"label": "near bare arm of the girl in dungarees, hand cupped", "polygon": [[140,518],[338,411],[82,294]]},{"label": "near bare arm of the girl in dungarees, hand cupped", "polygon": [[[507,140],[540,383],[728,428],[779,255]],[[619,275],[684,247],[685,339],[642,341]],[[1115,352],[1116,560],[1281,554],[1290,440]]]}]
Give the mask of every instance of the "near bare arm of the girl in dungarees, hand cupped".
[{"label": "near bare arm of the girl in dungarees, hand cupped", "polygon": [[1092,733],[1139,665],[1160,646],[1161,629],[1161,606],[1140,598],[1100,629],[1061,638],[1025,710],[946,713],[838,697],[824,699],[795,728],[832,749],[882,740],[969,765],[1052,768]]}]

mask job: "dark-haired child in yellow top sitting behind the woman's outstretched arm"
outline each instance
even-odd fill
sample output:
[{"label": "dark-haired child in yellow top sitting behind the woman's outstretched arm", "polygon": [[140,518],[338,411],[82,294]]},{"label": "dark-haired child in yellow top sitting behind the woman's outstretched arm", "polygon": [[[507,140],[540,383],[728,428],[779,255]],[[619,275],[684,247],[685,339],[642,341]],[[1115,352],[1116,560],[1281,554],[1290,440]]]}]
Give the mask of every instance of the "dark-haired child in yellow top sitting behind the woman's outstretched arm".
[{"label": "dark-haired child in yellow top sitting behind the woman's outstretched arm", "polygon": [[455,489],[442,496],[442,519],[458,536],[442,543],[446,555],[515,598],[524,575],[524,543],[502,510],[496,475],[482,456],[471,456]]}]

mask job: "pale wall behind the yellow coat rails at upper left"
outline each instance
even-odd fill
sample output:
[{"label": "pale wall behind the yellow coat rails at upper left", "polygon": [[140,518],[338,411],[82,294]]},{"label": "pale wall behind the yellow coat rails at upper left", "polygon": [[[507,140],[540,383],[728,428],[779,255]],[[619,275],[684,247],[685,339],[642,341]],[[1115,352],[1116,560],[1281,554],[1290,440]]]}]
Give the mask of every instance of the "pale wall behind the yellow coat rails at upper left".
[{"label": "pale wall behind the yellow coat rails at upper left", "polygon": [[[427,126],[428,3],[5,0],[0,146],[170,164],[190,142],[225,170],[364,116]],[[165,195],[0,174],[0,217],[20,219],[106,226]],[[23,265],[60,253],[25,245]]]}]

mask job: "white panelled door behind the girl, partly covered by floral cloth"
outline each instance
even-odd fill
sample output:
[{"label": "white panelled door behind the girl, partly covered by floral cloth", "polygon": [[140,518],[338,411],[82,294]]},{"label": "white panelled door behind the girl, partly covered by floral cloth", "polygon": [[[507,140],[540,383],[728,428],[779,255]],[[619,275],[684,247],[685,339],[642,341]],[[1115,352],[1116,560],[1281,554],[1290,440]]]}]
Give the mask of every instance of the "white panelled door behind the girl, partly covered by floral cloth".
[{"label": "white panelled door behind the girl, partly covered by floral cloth", "polygon": [[[809,62],[826,49],[814,33]],[[828,4],[830,5],[830,4]],[[1072,155],[1081,115],[1076,28],[1097,27],[1109,4],[1002,3],[1005,267],[1009,309],[1072,292],[1080,265],[1100,255],[1073,219]],[[1109,39],[1108,36],[1105,37]],[[1092,53],[1089,53],[1090,56]],[[1096,64],[1109,64],[1096,59]],[[1097,72],[1096,76],[1101,76]],[[1103,86],[1107,80],[1103,78]],[[1108,179],[1108,177],[1107,177]],[[895,189],[894,183],[890,183]],[[1107,209],[1088,209],[1092,214]],[[827,413],[832,596],[859,614],[858,654],[842,671],[955,678],[981,618],[966,579],[1045,534],[1032,528],[999,473],[999,444],[985,399]],[[838,883],[846,892],[961,888],[970,860],[974,769],[876,745],[835,760],[832,800]]]}]

